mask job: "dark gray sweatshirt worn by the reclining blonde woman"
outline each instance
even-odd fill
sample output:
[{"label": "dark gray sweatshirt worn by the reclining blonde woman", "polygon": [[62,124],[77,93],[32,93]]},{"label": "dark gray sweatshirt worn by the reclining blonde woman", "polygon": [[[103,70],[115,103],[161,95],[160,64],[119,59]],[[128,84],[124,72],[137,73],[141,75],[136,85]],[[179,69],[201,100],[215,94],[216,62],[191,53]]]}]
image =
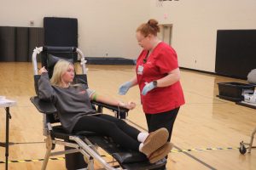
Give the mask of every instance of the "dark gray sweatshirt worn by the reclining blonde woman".
[{"label": "dark gray sweatshirt worn by the reclining blonde woman", "polygon": [[90,95],[95,91],[83,84],[69,88],[51,86],[48,73],[43,73],[38,81],[38,90],[39,99],[51,101],[55,105],[61,125],[68,133],[73,131],[81,116],[96,113],[90,103]]}]

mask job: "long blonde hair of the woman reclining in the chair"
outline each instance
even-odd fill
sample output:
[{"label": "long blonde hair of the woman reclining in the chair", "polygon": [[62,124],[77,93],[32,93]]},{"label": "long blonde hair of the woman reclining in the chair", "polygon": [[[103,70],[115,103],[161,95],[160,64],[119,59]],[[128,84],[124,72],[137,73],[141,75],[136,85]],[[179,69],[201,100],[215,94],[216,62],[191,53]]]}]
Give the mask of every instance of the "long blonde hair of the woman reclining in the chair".
[{"label": "long blonde hair of the woman reclining in the chair", "polygon": [[54,85],[54,86],[61,85],[61,81],[62,81],[61,77],[67,71],[69,65],[73,65],[73,64],[68,62],[67,60],[63,60],[63,59],[60,59],[55,64],[55,68],[54,68],[52,77],[50,78],[51,85]]}]

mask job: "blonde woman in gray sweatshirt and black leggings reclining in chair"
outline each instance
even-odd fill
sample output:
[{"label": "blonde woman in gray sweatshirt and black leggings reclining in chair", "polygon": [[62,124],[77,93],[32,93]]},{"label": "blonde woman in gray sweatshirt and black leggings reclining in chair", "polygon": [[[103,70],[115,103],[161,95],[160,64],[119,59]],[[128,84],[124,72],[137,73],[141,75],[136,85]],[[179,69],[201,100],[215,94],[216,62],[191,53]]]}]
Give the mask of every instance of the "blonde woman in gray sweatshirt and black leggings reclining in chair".
[{"label": "blonde woman in gray sweatshirt and black leggings reclining in chair", "polygon": [[72,84],[74,68],[67,60],[61,59],[55,64],[50,80],[48,71],[44,67],[39,73],[41,77],[38,81],[38,97],[53,102],[59,112],[61,125],[68,133],[85,130],[109,136],[125,149],[139,150],[151,163],[160,161],[172,149],[172,144],[167,142],[169,133],[166,128],[148,134],[138,131],[137,128],[114,116],[105,114],[91,116],[96,111],[92,108],[90,100],[129,110],[136,105],[133,102],[123,103],[96,94],[96,91],[87,88],[84,84]]}]

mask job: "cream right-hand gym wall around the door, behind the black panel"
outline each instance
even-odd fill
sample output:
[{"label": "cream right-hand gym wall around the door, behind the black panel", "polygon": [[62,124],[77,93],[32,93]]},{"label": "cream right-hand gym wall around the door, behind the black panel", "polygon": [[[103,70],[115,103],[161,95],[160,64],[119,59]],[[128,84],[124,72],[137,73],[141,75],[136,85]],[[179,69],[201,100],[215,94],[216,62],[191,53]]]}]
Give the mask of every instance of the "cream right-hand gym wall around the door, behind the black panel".
[{"label": "cream right-hand gym wall around the door, behind the black panel", "polygon": [[156,7],[151,0],[150,17],[173,25],[180,66],[214,72],[217,30],[256,29],[256,1],[179,0]]}]

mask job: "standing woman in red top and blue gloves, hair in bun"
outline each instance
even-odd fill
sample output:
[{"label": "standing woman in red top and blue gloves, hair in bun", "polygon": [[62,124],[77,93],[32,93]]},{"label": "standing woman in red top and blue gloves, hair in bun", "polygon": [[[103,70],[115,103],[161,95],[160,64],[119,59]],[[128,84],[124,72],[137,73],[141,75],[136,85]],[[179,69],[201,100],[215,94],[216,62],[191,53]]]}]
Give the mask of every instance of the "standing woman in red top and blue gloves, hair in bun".
[{"label": "standing woman in red top and blue gloves, hair in bun", "polygon": [[179,82],[177,54],[172,47],[160,41],[157,37],[159,31],[157,20],[148,20],[137,28],[137,42],[143,48],[137,59],[137,77],[122,84],[119,94],[125,95],[129,88],[138,85],[148,132],[166,127],[170,141],[177,112],[185,101]]}]

